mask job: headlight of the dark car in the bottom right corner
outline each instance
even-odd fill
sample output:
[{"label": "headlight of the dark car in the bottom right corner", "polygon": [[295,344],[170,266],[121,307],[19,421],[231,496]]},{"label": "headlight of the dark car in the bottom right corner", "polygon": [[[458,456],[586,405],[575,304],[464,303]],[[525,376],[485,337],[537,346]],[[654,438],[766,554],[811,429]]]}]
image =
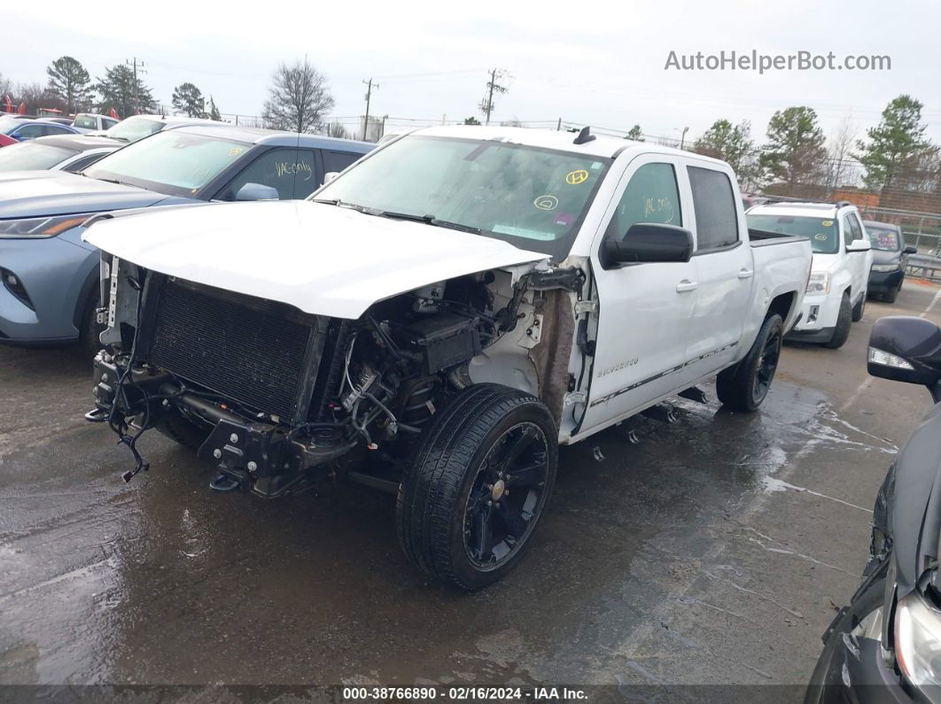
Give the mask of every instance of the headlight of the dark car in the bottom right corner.
[{"label": "headlight of the dark car in the bottom right corner", "polygon": [[895,654],[907,681],[941,685],[941,612],[917,594],[902,599],[896,610]]}]

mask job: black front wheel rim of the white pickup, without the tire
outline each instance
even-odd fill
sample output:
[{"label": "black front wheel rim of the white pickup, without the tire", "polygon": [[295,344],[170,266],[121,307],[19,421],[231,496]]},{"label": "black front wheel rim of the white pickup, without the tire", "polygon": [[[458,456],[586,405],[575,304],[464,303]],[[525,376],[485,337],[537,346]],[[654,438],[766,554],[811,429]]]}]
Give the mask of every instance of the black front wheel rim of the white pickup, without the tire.
[{"label": "black front wheel rim of the white pickup, without the tire", "polygon": [[505,430],[486,453],[464,511],[464,550],[478,570],[495,570],[519,552],[546,498],[549,446],[534,423]]}]

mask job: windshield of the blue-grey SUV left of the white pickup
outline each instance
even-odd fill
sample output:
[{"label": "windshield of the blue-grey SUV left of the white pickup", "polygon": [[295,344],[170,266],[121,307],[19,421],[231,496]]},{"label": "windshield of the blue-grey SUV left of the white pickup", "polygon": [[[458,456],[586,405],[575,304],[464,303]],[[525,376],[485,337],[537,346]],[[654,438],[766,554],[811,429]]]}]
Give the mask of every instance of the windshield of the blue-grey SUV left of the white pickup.
[{"label": "windshield of the blue-grey SUV left of the white pickup", "polygon": [[192,197],[249,149],[251,145],[244,142],[168,130],[108,154],[83,173],[92,179]]}]

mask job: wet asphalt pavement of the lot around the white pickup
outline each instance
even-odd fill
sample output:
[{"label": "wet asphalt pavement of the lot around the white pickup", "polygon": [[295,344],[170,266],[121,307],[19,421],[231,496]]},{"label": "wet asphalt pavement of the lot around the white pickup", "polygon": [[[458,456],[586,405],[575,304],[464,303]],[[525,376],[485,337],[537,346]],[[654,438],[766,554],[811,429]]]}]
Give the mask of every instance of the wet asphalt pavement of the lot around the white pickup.
[{"label": "wet asphalt pavement of the lot around the white pickup", "polygon": [[0,684],[805,683],[930,403],[866,375],[869,328],[941,323],[936,293],[870,302],[842,350],[788,346],[756,415],[683,401],[638,446],[564,448],[530,554],[470,595],[407,564],[388,494],[211,493],[152,432],[125,485],[82,419],[88,361],[0,347]]}]

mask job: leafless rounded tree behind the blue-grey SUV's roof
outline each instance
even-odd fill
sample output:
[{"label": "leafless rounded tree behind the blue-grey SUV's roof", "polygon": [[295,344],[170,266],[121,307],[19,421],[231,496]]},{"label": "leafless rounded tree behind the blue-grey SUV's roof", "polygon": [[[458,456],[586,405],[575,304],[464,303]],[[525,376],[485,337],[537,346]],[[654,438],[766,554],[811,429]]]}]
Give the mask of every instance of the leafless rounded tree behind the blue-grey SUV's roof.
[{"label": "leafless rounded tree behind the blue-grey SUV's roof", "polygon": [[267,126],[276,130],[314,132],[322,128],[332,107],[327,78],[305,58],[290,66],[279,64],[262,115]]}]

